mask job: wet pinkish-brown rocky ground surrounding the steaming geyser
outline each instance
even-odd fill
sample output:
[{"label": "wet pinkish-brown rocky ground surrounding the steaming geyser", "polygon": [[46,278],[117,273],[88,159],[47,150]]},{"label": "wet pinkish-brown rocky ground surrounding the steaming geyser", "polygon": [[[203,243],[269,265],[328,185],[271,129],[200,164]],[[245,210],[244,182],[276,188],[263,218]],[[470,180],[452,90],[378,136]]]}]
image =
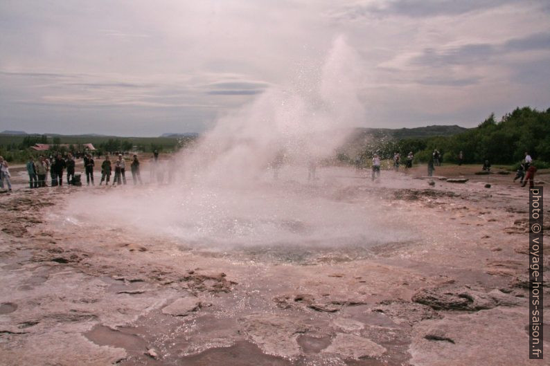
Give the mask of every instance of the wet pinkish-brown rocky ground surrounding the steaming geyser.
[{"label": "wet pinkish-brown rocky ground surrounding the steaming geyser", "polygon": [[51,214],[83,191],[134,187],[19,182],[0,194],[1,365],[547,364],[527,353],[526,188],[496,174],[489,189],[473,175],[432,187],[362,174],[320,169],[309,189],[406,217],[415,239],[360,252],[194,250]]}]

